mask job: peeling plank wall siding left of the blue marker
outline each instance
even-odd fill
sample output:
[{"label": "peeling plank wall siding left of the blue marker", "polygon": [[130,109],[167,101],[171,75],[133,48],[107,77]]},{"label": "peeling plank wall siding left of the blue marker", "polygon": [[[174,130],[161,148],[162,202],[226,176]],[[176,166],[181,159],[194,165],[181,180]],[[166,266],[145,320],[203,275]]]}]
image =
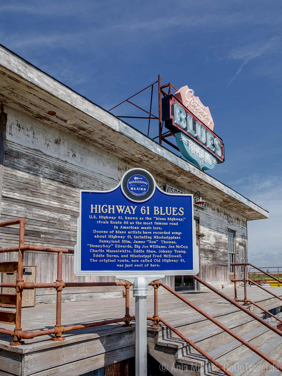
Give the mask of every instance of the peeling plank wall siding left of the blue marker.
[{"label": "peeling plank wall siding left of the blue marker", "polygon": [[[79,190],[114,188],[129,168],[132,166],[103,150],[8,109],[1,221],[26,218],[25,244],[73,248]],[[0,229],[0,238],[1,247],[17,245],[18,226]],[[14,253],[1,257],[5,261],[16,260]],[[63,259],[65,281],[115,280],[114,277],[77,277],[73,273],[73,256],[64,255]],[[56,255],[27,251],[24,264],[37,265],[38,283],[56,279]],[[173,286],[174,278],[166,277],[165,283]],[[116,287],[84,288],[79,294],[76,291],[69,289],[64,301],[123,296],[122,288]],[[37,302],[55,299],[47,289],[36,294]]]}]

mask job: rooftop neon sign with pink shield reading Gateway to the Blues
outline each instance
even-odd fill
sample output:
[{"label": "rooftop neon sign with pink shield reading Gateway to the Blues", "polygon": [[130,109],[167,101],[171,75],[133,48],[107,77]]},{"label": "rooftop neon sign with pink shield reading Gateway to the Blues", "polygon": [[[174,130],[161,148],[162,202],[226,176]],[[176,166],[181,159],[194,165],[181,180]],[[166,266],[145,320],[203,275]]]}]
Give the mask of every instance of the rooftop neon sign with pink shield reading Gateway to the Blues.
[{"label": "rooftop neon sign with pink shield reading Gateway to the Blues", "polygon": [[162,98],[162,120],[174,134],[181,154],[202,170],[224,162],[222,139],[214,132],[214,121],[199,97],[188,86],[175,96]]}]

